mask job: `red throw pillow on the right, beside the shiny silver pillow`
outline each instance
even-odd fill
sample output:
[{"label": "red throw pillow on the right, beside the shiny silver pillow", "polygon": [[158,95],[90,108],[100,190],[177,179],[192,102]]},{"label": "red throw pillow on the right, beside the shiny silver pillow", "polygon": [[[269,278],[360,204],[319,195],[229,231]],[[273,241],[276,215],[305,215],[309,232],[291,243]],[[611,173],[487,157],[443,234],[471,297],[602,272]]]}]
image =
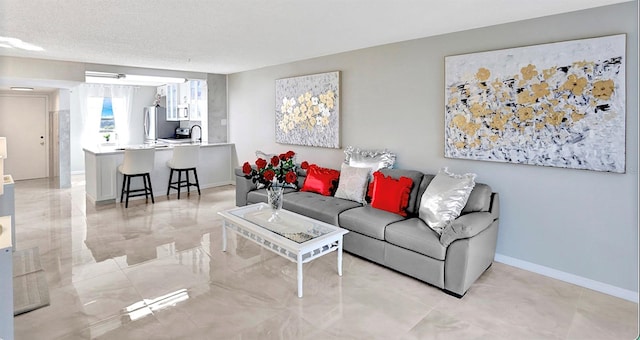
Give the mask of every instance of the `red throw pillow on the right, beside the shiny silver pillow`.
[{"label": "red throw pillow on the right, beside the shiny silver pillow", "polygon": [[373,173],[373,193],[371,206],[376,209],[386,210],[394,214],[407,216],[409,195],[413,180],[408,177],[393,179],[385,177],[381,172]]}]

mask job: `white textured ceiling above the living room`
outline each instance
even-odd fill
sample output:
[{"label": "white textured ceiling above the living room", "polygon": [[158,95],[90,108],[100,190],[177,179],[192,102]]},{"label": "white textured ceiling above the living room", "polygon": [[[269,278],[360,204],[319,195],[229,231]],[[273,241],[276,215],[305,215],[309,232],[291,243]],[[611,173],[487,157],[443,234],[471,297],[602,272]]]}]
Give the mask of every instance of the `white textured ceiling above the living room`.
[{"label": "white textured ceiling above the living room", "polygon": [[0,0],[0,37],[44,49],[0,55],[228,74],[627,1]]}]

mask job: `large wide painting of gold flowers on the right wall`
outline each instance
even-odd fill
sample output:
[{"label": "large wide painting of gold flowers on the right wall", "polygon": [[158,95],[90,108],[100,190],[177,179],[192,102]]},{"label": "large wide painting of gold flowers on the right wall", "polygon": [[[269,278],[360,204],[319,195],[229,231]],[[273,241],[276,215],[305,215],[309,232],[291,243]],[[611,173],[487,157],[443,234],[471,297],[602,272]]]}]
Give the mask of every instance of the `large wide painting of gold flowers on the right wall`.
[{"label": "large wide painting of gold flowers on the right wall", "polygon": [[445,157],[625,171],[625,35],[445,58]]}]

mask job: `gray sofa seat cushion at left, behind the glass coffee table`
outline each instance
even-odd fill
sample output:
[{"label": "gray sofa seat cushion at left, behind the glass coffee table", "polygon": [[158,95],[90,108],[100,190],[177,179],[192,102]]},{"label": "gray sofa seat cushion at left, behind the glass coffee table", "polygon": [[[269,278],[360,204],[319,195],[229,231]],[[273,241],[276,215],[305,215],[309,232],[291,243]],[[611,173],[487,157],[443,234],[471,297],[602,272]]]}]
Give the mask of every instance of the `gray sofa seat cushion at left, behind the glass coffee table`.
[{"label": "gray sofa seat cushion at left, behind the glass coffee table", "polygon": [[341,212],[361,206],[362,204],[354,201],[304,191],[286,193],[282,203],[286,210],[335,226],[338,225],[338,215]]}]

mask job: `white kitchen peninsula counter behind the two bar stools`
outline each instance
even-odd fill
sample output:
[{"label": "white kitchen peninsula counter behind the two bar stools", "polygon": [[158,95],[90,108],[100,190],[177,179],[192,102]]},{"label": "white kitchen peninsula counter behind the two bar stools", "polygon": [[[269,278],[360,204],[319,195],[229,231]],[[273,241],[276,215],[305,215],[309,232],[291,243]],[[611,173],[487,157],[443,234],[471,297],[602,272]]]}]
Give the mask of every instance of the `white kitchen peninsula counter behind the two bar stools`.
[{"label": "white kitchen peninsula counter behind the two bar stools", "polygon": [[[200,145],[200,157],[198,161],[198,180],[200,188],[233,184],[233,167],[231,155],[233,144],[231,143],[207,143],[198,142]],[[124,159],[125,148],[156,149],[155,164],[150,173],[151,185],[154,197],[165,196],[169,183],[169,167],[167,161],[173,155],[173,147],[177,144],[145,144],[145,145],[96,145],[93,148],[83,148],[85,182],[87,199],[94,205],[114,203],[120,201],[122,189],[122,174],[118,172],[118,166]],[[142,187],[140,183],[132,181],[132,187]],[[175,194],[173,190],[171,194]],[[138,197],[139,198],[139,197]]]}]

